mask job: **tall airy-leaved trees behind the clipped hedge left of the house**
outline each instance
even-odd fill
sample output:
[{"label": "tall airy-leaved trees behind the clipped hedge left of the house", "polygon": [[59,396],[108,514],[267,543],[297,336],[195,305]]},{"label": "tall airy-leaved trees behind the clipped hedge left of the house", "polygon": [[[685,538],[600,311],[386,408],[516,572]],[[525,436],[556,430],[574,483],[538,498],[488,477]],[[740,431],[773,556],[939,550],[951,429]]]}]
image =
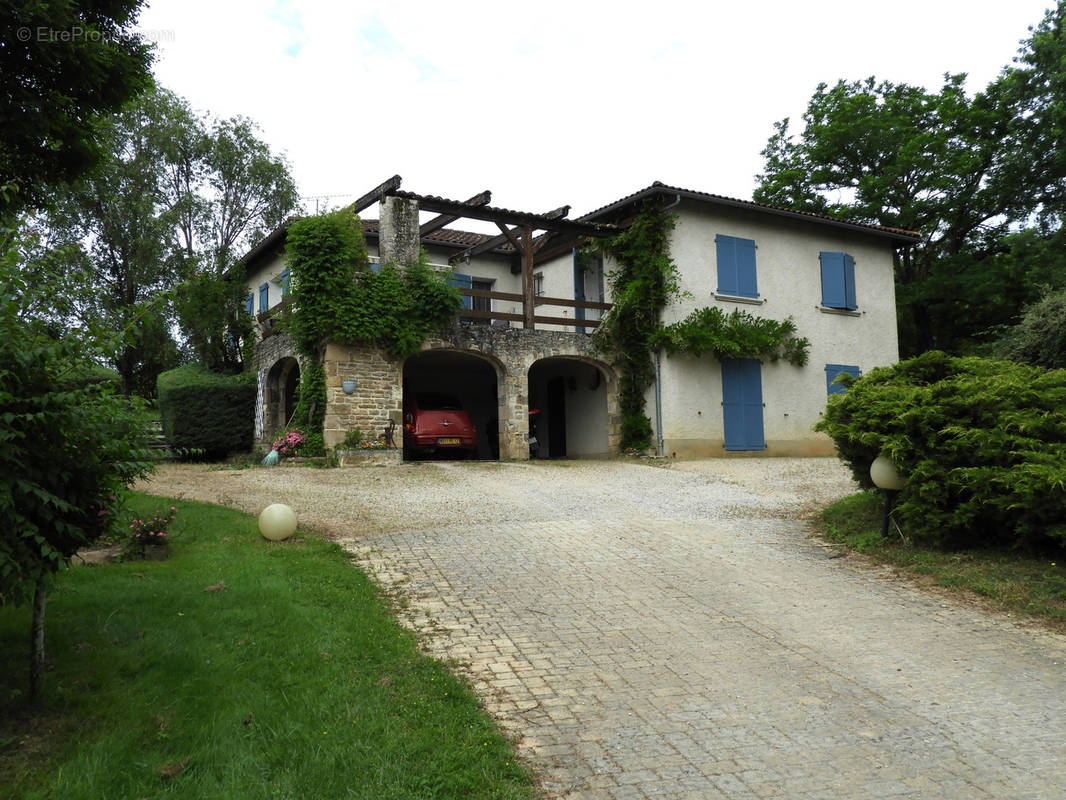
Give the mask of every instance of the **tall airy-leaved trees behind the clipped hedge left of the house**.
[{"label": "tall airy-leaved trees behind the clipped hedge left of the house", "polygon": [[[164,89],[116,115],[106,141],[109,157],[47,217],[53,242],[91,276],[76,303],[83,323],[132,323],[114,362],[127,394],[154,394],[176,365],[175,316],[188,356],[239,368],[251,326],[237,314],[243,288],[225,273],[295,206],[287,163],[251,122],[205,118]],[[145,311],[172,289],[172,305]]]}]

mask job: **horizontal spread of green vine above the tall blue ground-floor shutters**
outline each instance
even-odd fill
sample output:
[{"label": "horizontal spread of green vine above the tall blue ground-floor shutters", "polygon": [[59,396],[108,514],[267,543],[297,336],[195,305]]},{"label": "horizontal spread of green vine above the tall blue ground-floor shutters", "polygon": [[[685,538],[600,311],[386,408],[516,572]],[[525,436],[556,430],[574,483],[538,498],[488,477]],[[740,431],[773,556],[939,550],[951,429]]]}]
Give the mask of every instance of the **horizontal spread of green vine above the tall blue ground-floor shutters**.
[{"label": "horizontal spread of green vine above the tall blue ground-floor shutters", "polygon": [[784,358],[803,367],[807,364],[810,342],[796,338],[795,322],[754,317],[747,311],[726,314],[721,308],[697,308],[680,322],[660,327],[651,335],[653,350],[669,354],[702,355],[724,358]]}]

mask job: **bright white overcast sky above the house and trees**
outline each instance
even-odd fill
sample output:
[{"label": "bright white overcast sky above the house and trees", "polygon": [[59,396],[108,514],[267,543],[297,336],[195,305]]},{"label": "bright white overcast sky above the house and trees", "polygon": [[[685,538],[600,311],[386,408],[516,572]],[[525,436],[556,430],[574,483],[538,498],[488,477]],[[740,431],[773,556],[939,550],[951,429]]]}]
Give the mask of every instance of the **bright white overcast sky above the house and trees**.
[{"label": "bright white overcast sky above the house and trees", "polygon": [[980,90],[1050,4],[150,0],[139,28],[159,81],[254,118],[302,195],[336,206],[399,173],[577,217],[653,180],[750,198],[773,123],[798,125],[819,82]]}]

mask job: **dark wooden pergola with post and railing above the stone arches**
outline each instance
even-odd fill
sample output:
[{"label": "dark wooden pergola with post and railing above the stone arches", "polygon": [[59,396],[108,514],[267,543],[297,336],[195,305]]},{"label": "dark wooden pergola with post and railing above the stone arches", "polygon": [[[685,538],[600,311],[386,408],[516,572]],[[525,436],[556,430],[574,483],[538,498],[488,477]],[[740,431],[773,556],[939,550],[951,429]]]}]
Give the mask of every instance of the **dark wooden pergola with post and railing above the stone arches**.
[{"label": "dark wooden pergola with post and railing above the stone arches", "polygon": [[379,183],[359,197],[359,199],[353,203],[350,208],[355,213],[359,213],[373,204],[379,203],[390,196],[414,201],[418,204],[419,210],[431,211],[438,214],[419,226],[420,236],[425,236],[434,230],[439,230],[440,228],[443,228],[461,219],[491,222],[495,223],[500,229],[500,234],[456,253],[449,259],[450,263],[455,265],[461,261],[469,262],[471,258],[474,258],[482,253],[488,253],[491,251],[507,252],[518,261],[517,269],[514,269],[514,272],[521,272],[521,294],[467,288],[459,289],[459,293],[474,298],[520,302],[522,304],[522,314],[504,314],[502,311],[468,309],[464,311],[464,317],[521,322],[528,330],[532,330],[537,322],[542,324],[595,327],[599,324],[597,320],[578,320],[569,317],[545,317],[536,314],[536,307],[538,305],[555,305],[570,308],[595,308],[600,310],[608,310],[611,308],[610,303],[571,300],[569,298],[535,297],[533,291],[533,269],[538,263],[543,263],[551,258],[556,258],[568,252],[575,247],[580,240],[614,236],[623,230],[621,227],[607,223],[568,220],[566,218],[570,211],[569,206],[563,206],[543,214],[529,213],[526,211],[512,211],[506,208],[495,208],[489,206],[488,203],[491,199],[491,192],[489,191],[481,192],[467,201],[452,201],[434,195],[422,195],[401,191],[400,182],[400,176],[393,175],[388,180]]}]

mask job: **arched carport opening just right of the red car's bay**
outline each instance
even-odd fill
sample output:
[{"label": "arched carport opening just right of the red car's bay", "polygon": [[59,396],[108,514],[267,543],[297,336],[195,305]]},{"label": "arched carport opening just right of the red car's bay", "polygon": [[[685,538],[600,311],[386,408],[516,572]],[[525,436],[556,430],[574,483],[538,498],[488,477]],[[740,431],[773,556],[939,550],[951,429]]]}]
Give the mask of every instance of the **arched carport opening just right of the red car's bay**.
[{"label": "arched carport opening just right of the red car's bay", "polygon": [[[529,370],[530,426],[535,458],[607,458],[607,379],[579,358],[542,358]],[[533,413],[536,412],[536,413]]]}]

